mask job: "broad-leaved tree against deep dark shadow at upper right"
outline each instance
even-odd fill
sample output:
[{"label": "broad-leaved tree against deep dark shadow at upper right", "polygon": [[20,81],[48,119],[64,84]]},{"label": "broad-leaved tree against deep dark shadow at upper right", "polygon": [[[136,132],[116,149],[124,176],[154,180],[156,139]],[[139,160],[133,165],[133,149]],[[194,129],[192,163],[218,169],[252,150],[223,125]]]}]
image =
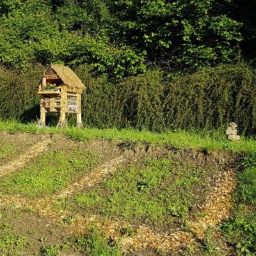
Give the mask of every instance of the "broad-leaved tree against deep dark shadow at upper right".
[{"label": "broad-leaved tree against deep dark shadow at upper right", "polygon": [[166,69],[227,63],[242,40],[231,1],[113,1],[116,40],[144,49]]}]

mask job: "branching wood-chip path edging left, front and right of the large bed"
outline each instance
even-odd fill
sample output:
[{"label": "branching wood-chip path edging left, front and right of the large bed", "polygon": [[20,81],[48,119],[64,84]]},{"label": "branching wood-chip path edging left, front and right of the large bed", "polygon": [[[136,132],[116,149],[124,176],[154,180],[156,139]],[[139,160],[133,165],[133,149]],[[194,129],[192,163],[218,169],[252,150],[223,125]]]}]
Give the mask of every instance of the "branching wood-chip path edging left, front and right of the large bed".
[{"label": "branching wood-chip path edging left, front and right of the large bed", "polygon": [[[67,189],[61,191],[59,195],[42,198],[42,200],[29,200],[20,196],[2,196],[0,205],[14,205],[14,207],[31,208],[38,212],[41,216],[45,216],[54,222],[72,216],[72,212],[56,211],[51,203],[60,197],[68,197],[75,193],[76,189],[86,186],[93,186],[97,182],[101,182],[111,172],[115,172],[118,163],[122,163],[124,159],[117,157],[108,163],[102,165],[99,169],[92,171],[89,175],[81,179],[79,182],[68,186]],[[116,166],[117,165],[117,166]],[[208,227],[214,227],[221,221],[226,220],[230,212],[230,198],[236,187],[236,172],[229,169],[226,172],[220,172],[216,177],[213,188],[207,193],[204,204],[198,207],[200,215],[195,220],[191,220],[188,228],[199,239],[204,239],[205,231]],[[101,216],[74,216],[70,225],[70,232],[85,232],[86,227],[91,224],[105,230],[107,236],[120,241],[124,250],[129,248],[155,248],[162,250],[177,250],[180,247],[186,247],[193,238],[189,232],[182,230],[174,230],[170,234],[161,234],[153,232],[149,227],[141,225],[136,228],[126,221],[109,221],[104,220]],[[131,227],[135,232],[130,236],[122,236],[120,230],[125,227]]]}]

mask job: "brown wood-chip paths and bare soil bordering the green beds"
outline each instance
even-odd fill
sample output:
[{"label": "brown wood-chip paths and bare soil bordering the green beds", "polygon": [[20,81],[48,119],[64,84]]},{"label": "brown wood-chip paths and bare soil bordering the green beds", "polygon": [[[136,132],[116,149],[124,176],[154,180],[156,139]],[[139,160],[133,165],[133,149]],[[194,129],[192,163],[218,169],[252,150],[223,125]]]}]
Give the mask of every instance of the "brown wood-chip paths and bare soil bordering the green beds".
[{"label": "brown wood-chip paths and bare soil bordering the green beds", "polygon": [[[2,134],[3,136],[3,134]],[[31,134],[22,134],[22,140],[31,136]],[[29,209],[29,211],[38,214],[40,218],[49,220],[52,225],[59,227],[60,223],[68,216],[72,216],[72,212],[57,211],[52,207],[58,198],[67,198],[83,189],[93,188],[104,179],[108,179],[108,175],[116,172],[118,167],[129,165],[133,162],[143,161],[147,157],[164,157],[172,156],[173,159],[184,159],[184,161],[195,161],[200,164],[216,163],[220,164],[220,172],[214,173],[211,176],[211,188],[205,192],[205,200],[200,205],[196,205],[193,211],[198,212],[198,216],[188,220],[188,227],[186,231],[178,228],[177,230],[170,230],[170,232],[156,232],[147,225],[141,223],[140,226],[134,226],[133,223],[127,223],[124,220],[110,221],[105,220],[102,216],[84,217],[81,215],[72,216],[72,223],[66,225],[65,232],[67,234],[84,233],[88,225],[96,225],[104,229],[107,236],[116,241],[119,241],[124,252],[140,251],[145,253],[148,248],[153,250],[176,251],[179,248],[184,248],[192,243],[195,239],[204,239],[205,230],[208,227],[214,227],[226,220],[230,212],[230,198],[236,187],[236,172],[230,166],[234,162],[234,156],[228,153],[218,152],[218,154],[205,154],[200,150],[177,150],[175,148],[166,147],[148,147],[140,146],[138,148],[126,149],[118,147],[118,143],[111,143],[105,140],[92,140],[84,143],[68,140],[65,136],[49,136],[47,138],[41,137],[41,141],[29,147],[23,154],[10,161],[8,164],[0,166],[0,175],[8,175],[9,172],[20,170],[29,159],[33,159],[37,154],[47,150],[49,143],[51,143],[51,150],[58,150],[60,148],[72,149],[74,145],[84,150],[92,150],[100,154],[99,164],[88,175],[81,180],[77,180],[74,184],[70,184],[60,193],[51,196],[45,196],[40,200],[30,200],[19,195],[3,195],[0,198],[1,208],[6,206],[10,209]],[[20,165],[19,165],[20,163]],[[225,167],[226,166],[226,167]],[[10,168],[12,167],[12,168]],[[28,217],[28,220],[31,217]],[[26,221],[24,219],[25,222]],[[62,221],[62,222],[61,222]],[[31,225],[31,223],[26,223]],[[33,224],[34,225],[34,224]],[[131,227],[134,234],[122,234],[120,230],[124,227]],[[58,229],[58,228],[57,228]],[[24,231],[26,233],[26,230]],[[40,230],[38,230],[40,232]],[[63,232],[63,230],[61,231]],[[38,236],[38,234],[37,234]],[[54,240],[54,239],[53,239]],[[147,255],[147,254],[145,254]]]}]

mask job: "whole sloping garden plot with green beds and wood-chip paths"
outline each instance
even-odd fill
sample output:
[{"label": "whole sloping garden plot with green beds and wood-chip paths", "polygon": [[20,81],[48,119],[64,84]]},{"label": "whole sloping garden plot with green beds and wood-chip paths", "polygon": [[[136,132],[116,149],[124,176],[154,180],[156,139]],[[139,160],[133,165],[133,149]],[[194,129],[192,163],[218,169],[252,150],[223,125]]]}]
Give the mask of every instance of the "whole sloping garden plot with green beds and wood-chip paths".
[{"label": "whole sloping garden plot with green beds and wood-chip paths", "polygon": [[[255,158],[241,162],[241,149],[178,147],[172,138],[142,143],[117,131],[112,140],[72,140],[6,127],[1,255],[245,255],[239,246],[255,252],[244,244],[254,234],[255,190],[243,181]],[[237,226],[241,218],[252,227],[248,234]]]}]

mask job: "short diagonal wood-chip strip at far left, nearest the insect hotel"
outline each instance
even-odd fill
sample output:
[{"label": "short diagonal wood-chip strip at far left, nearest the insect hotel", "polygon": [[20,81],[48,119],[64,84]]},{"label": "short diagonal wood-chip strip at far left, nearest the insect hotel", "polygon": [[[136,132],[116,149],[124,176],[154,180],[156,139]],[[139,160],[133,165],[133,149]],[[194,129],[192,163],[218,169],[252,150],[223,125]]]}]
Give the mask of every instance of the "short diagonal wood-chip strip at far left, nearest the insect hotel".
[{"label": "short diagonal wood-chip strip at far left, nearest the insect hotel", "polygon": [[51,139],[47,138],[43,141],[36,143],[35,145],[28,148],[26,152],[21,154],[16,159],[13,159],[7,164],[0,166],[0,177],[7,175],[9,173],[15,172],[23,168],[29,159],[38,156],[38,154],[44,152],[44,150],[51,143]]}]

